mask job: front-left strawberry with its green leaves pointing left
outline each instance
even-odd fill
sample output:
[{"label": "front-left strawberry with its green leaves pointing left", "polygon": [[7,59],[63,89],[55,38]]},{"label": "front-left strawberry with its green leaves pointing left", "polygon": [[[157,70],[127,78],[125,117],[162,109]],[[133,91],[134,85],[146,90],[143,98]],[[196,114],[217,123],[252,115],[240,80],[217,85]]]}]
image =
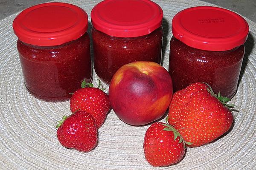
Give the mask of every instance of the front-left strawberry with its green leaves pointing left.
[{"label": "front-left strawberry with its green leaves pointing left", "polygon": [[63,116],[56,126],[57,137],[64,147],[89,152],[98,142],[98,131],[93,116],[85,111],[77,111]]}]

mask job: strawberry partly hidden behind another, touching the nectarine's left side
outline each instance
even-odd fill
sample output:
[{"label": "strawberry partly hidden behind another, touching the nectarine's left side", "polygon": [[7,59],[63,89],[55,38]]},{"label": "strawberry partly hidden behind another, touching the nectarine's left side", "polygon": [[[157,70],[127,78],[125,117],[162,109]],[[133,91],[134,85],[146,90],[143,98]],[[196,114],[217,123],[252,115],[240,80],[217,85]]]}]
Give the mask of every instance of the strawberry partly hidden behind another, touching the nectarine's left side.
[{"label": "strawberry partly hidden behind another, touching the nectarine's left side", "polygon": [[90,113],[95,119],[97,129],[105,122],[107,113],[111,109],[108,94],[99,87],[100,81],[98,88],[84,81],[81,88],[76,90],[70,99],[70,110]]}]

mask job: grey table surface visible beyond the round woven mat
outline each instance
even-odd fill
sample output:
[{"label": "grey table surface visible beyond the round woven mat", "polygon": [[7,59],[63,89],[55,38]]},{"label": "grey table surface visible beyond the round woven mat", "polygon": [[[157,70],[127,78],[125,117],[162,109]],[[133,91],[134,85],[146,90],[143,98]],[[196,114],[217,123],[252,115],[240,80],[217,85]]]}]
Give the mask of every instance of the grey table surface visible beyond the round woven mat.
[{"label": "grey table surface visible beyond the round woven mat", "polygon": [[[256,0],[203,0],[235,11],[256,22]],[[0,0],[0,20],[29,6],[49,0]]]}]

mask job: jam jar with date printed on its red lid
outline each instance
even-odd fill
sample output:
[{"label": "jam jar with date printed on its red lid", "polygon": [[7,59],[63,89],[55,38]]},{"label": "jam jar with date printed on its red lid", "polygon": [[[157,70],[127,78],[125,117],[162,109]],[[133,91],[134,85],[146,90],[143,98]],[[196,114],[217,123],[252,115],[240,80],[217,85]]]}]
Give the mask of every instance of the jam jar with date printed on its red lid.
[{"label": "jam jar with date printed on its red lid", "polygon": [[215,93],[236,93],[249,26],[227,9],[199,6],[178,12],[172,20],[169,74],[174,92],[206,82]]}]

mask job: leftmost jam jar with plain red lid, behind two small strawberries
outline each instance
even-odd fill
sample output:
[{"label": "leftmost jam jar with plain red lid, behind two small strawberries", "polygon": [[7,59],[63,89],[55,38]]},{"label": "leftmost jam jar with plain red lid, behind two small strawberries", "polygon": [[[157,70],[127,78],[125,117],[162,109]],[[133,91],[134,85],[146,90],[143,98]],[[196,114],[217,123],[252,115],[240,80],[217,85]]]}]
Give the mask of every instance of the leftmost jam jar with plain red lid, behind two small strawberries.
[{"label": "leftmost jam jar with plain red lid, behind two small strawberries", "polygon": [[69,100],[92,79],[87,13],[68,3],[43,3],[13,21],[24,83],[30,94],[48,102]]}]

